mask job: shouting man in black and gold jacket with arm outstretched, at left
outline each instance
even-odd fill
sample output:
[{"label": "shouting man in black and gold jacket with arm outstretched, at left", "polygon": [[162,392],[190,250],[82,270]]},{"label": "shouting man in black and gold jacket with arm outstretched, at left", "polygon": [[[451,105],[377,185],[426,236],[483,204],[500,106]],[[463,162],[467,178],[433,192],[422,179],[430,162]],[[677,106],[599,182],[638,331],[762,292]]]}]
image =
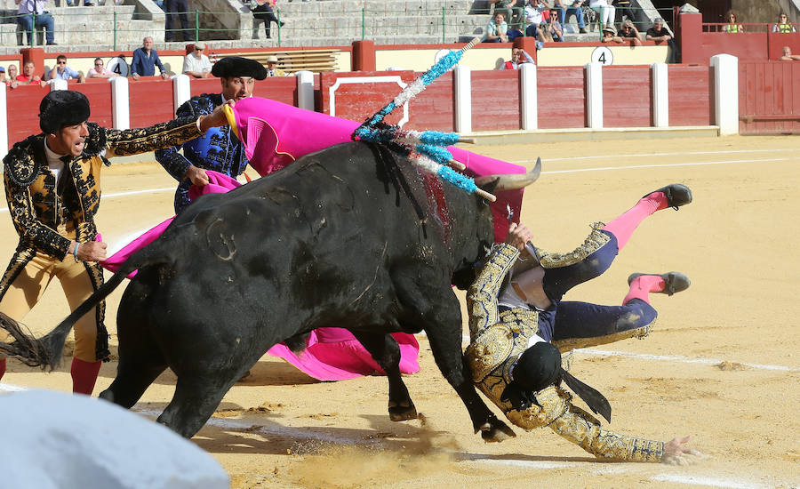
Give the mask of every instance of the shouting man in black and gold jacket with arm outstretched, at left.
[{"label": "shouting man in black and gold jacket with arm outstretched, at left", "polygon": [[[94,215],[100,206],[100,169],[108,157],[135,155],[196,138],[227,124],[221,110],[211,116],[176,119],[124,131],[87,123],[83,93],[48,93],[39,106],[42,133],[15,144],[4,157],[5,196],[20,243],[0,279],[0,313],[20,320],[57,277],[70,309],[103,283],[97,261],[106,258]],[[73,391],[91,395],[108,358],[103,325],[105,303],[75,326]],[[0,335],[6,341],[7,335]],[[5,359],[0,358],[0,377]]]}]

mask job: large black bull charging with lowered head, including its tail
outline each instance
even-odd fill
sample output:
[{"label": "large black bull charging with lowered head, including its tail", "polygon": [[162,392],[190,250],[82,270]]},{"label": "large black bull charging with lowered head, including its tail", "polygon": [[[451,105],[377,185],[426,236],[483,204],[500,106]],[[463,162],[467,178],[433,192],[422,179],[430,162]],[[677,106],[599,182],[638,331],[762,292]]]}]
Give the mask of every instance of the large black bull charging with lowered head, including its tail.
[{"label": "large black bull charging with lowered head, including its tail", "polygon": [[116,380],[100,397],[131,407],[170,367],[178,380],[158,421],[184,437],[264,352],[320,326],[347,327],[372,354],[388,374],[396,421],[416,410],[388,333],[425,331],[476,431],[487,440],[513,436],[473,387],[451,285],[466,288],[474,277],[493,242],[492,213],[447,183],[438,212],[424,180],[385,148],[345,143],[204,196],[41,341],[17,330],[0,350],[57,364],[76,318],[139,269],[117,313]]}]

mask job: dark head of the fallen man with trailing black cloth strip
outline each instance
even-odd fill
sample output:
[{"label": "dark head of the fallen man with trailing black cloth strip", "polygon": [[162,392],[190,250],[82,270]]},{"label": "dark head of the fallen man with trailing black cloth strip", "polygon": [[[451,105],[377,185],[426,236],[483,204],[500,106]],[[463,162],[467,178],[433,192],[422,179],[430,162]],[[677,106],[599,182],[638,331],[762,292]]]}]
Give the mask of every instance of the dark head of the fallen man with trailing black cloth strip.
[{"label": "dark head of the fallen man with trailing black cloth strip", "polygon": [[515,409],[527,409],[536,402],[536,393],[561,381],[580,396],[586,405],[611,422],[611,405],[603,394],[589,387],[561,367],[561,352],[555,345],[540,341],[526,349],[516,360],[511,372],[514,381],[508,384],[500,400],[511,402]]}]

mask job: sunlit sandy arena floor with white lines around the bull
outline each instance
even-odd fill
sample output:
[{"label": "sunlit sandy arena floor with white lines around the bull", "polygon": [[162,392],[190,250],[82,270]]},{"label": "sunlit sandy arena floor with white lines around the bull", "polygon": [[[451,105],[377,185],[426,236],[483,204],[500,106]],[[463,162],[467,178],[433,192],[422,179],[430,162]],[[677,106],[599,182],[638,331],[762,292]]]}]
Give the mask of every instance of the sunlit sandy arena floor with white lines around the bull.
[{"label": "sunlit sandy arena floor with white lines around the bull", "polygon": [[[470,148],[529,167],[542,156],[522,219],[548,250],[572,250],[589,223],[611,220],[652,189],[676,181],[692,188],[691,205],[645,220],[612,269],[566,299],[619,304],[635,271],[692,278],[684,293],[652,297],[660,317],[649,337],[578,350],[572,372],[609,398],[611,429],[660,440],[691,435],[690,445],[710,456],[704,461],[597,462],[549,429],[516,429],[516,439],[486,445],[423,336],[422,372],[405,379],[418,421],[388,420],[383,378],[318,382],[264,357],[194,441],[228,470],[234,488],[798,487],[798,143],[727,137]],[[156,164],[107,169],[97,218],[105,240],[114,246],[171,215],[173,185]],[[7,213],[0,210],[3,260],[17,242]],[[112,335],[122,291],[108,301]],[[67,312],[53,284],[25,322],[45,333]],[[68,362],[45,374],[9,361],[3,381],[67,391]],[[115,371],[115,363],[103,365],[95,394]],[[136,409],[155,417],[173,382],[164,373]]]}]

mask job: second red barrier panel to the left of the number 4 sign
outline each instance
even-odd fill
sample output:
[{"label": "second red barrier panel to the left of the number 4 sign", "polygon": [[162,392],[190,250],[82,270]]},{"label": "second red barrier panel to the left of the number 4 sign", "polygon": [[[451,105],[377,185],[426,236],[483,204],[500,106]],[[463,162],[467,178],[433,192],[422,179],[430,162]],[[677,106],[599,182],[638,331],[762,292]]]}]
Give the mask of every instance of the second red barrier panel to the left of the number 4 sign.
[{"label": "second red barrier panel to the left of the number 4 sign", "polygon": [[520,127],[519,71],[473,71],[472,130],[506,131]]}]

